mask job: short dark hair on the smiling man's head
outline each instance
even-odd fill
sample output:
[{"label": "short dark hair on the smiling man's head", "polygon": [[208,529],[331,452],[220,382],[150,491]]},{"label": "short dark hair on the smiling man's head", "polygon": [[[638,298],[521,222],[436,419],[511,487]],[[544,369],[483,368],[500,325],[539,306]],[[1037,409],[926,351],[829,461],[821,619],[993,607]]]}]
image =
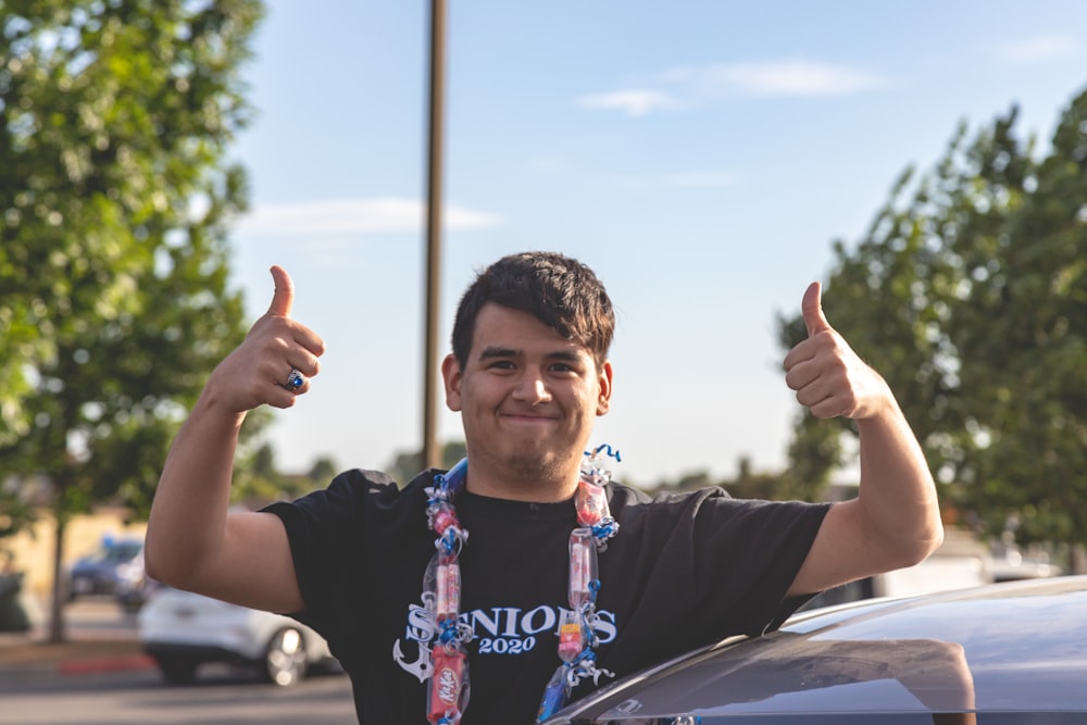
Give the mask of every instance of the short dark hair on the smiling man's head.
[{"label": "short dark hair on the smiling man's head", "polygon": [[535,315],[567,340],[584,345],[603,365],[615,330],[615,313],[592,270],[557,252],[522,252],[476,275],[457,308],[453,355],[463,368],[472,350],[479,310],[488,302]]}]

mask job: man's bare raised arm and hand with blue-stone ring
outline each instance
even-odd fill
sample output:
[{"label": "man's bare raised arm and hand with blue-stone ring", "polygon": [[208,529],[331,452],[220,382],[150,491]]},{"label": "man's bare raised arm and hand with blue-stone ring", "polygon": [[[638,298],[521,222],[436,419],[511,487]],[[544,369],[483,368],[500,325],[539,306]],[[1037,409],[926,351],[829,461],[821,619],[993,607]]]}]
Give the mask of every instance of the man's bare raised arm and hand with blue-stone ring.
[{"label": "man's bare raised arm and hand with blue-stone ring", "polygon": [[324,342],[290,318],[293,286],[272,267],[275,296],[246,340],[211,374],[163,466],[148,520],[148,575],[178,589],[275,612],[297,612],[302,595],[287,533],[270,513],[232,513],[230,477],[246,413],[290,408],[309,389],[284,383],[291,367],[318,372]]}]

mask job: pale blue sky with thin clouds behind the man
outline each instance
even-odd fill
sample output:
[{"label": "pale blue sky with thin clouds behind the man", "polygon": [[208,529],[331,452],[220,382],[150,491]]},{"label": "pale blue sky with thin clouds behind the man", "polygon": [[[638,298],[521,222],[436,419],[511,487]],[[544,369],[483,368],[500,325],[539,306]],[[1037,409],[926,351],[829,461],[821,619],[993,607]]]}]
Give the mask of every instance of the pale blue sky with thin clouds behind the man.
[{"label": "pale blue sky with thin clouds behind the man", "polygon": [[[826,278],[833,241],[860,238],[960,122],[1017,103],[1045,148],[1087,87],[1077,0],[449,5],[441,339],[498,257],[590,264],[619,311],[594,439],[637,484],[783,467],[800,409],[775,321]],[[247,68],[236,283],[255,318],[283,264],[328,349],[270,432],[288,471],[421,446],[428,9],[271,0]],[[461,438],[453,414],[439,437]]]}]

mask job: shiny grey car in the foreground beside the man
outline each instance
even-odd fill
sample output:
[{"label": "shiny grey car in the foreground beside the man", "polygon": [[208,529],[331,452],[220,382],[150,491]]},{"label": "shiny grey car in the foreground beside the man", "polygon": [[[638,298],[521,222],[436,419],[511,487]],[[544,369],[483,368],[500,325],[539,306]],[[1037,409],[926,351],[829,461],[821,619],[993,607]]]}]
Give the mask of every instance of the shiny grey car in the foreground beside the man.
[{"label": "shiny grey car in the foreground beside the man", "polygon": [[633,674],[548,725],[1087,722],[1087,576],[869,599]]}]

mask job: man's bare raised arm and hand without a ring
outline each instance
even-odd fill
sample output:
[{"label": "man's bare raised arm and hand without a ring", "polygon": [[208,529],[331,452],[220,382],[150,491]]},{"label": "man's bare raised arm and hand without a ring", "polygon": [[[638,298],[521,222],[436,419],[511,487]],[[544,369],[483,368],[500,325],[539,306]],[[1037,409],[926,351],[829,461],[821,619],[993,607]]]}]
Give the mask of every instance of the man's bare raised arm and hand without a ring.
[{"label": "man's bare raised arm and hand without a ring", "polygon": [[813,415],[857,421],[861,486],[827,512],[790,596],[911,566],[944,540],[932,472],[886,380],[827,323],[817,283],[802,309],[808,339],[786,357],[786,383]]}]

